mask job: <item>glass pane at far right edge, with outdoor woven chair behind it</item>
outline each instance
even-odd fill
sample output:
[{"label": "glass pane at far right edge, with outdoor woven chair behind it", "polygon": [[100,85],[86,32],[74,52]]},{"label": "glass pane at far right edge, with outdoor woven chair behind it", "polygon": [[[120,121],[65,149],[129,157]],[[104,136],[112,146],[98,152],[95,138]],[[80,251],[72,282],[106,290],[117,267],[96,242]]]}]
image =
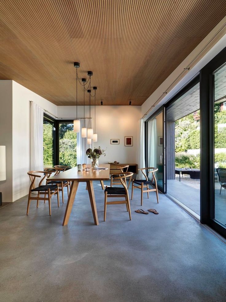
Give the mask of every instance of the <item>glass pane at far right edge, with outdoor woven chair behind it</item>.
[{"label": "glass pane at far right edge, with outdoor woven chair behind it", "polygon": [[214,217],[226,224],[226,66],[214,73]]}]

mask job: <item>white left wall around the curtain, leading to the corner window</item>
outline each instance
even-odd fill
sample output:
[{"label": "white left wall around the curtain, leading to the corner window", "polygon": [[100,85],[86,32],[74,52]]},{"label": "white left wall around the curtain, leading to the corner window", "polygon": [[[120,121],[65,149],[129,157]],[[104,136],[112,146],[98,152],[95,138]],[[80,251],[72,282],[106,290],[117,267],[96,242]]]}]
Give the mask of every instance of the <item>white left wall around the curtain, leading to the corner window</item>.
[{"label": "white left wall around the curtain, leading to the corner window", "polygon": [[30,101],[57,114],[56,105],[12,81],[13,201],[27,195],[30,185]]}]

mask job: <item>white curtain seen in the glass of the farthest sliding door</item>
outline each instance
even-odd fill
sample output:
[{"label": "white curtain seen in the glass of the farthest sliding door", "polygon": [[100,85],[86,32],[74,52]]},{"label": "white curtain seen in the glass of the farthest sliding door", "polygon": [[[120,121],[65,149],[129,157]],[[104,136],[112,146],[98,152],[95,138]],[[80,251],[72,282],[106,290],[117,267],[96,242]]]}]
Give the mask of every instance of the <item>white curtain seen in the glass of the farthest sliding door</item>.
[{"label": "white curtain seen in the glass of the farthest sliding door", "polygon": [[147,148],[148,148],[148,167],[157,166],[157,127],[156,127],[156,118],[153,118],[147,123]]}]

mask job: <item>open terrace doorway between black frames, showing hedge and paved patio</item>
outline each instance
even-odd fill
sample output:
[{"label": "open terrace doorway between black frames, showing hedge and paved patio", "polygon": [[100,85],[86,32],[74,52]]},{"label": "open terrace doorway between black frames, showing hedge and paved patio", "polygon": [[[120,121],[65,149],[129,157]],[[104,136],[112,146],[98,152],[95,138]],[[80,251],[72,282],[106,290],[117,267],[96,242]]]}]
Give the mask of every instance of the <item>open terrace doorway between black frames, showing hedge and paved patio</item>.
[{"label": "open terrace doorway between black frames, showing hedge and paved patio", "polygon": [[[166,105],[167,195],[200,219],[200,89],[190,83]],[[183,194],[181,194],[183,192]]]}]

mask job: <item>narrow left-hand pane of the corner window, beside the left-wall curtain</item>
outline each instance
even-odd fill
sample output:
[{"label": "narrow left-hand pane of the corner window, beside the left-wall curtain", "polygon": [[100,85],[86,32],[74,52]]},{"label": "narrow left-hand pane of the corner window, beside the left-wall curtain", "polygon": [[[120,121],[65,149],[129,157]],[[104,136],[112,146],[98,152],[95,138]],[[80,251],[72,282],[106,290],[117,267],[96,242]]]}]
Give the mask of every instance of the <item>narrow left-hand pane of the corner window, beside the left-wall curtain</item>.
[{"label": "narrow left-hand pane of the corner window, beside the left-wall curtain", "polygon": [[47,116],[43,117],[43,164],[44,168],[54,166],[54,121]]}]

